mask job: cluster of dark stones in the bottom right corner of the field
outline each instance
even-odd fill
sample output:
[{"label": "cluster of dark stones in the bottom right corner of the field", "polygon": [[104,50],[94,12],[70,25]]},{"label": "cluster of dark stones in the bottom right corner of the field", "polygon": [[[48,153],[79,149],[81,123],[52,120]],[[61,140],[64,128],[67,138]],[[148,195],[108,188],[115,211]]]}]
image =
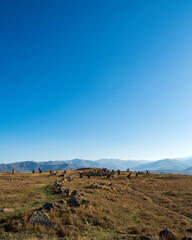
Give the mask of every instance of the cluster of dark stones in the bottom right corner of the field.
[{"label": "cluster of dark stones in the bottom right corner of the field", "polygon": [[[186,231],[192,232],[192,229],[187,229]],[[159,233],[159,236],[141,236],[141,240],[174,240],[176,239],[175,233],[169,229],[164,229]],[[182,240],[192,240],[191,236],[185,236]]]}]

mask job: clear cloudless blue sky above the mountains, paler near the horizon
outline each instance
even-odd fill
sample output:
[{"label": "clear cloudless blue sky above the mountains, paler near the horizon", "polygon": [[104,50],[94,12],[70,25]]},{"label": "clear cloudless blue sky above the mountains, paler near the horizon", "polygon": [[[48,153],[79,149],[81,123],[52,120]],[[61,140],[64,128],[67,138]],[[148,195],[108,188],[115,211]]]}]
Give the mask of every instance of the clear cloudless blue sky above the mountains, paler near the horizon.
[{"label": "clear cloudless blue sky above the mountains, paler near the horizon", "polygon": [[0,163],[188,155],[191,0],[0,1]]}]

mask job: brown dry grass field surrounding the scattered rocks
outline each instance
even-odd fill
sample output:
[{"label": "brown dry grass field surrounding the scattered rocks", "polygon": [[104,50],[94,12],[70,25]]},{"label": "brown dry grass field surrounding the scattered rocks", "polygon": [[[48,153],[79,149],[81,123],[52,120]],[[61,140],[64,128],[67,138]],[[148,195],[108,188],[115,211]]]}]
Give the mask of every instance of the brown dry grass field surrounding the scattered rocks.
[{"label": "brown dry grass field surrounding the scattered rocks", "polygon": [[[76,171],[67,171],[67,175]],[[59,172],[61,174],[61,172]],[[91,201],[89,207],[70,210],[63,193],[54,189],[55,180],[49,172],[11,174],[0,173],[0,239],[140,239],[158,235],[165,228],[176,234],[176,239],[190,235],[192,228],[192,176],[150,174],[128,179],[126,172],[114,178],[79,178],[64,185],[83,194]],[[112,190],[90,189],[93,182],[112,184]],[[57,227],[46,228],[28,223],[32,211],[46,202],[66,199],[64,212],[51,211],[49,217]]]}]

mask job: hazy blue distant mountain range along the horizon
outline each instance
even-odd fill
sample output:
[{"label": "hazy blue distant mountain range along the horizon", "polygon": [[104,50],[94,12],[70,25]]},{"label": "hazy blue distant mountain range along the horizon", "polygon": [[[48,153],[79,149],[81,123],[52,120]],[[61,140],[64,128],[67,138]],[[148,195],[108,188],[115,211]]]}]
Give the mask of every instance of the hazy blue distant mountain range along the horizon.
[{"label": "hazy blue distant mountain range along the horizon", "polygon": [[120,159],[99,159],[83,160],[63,160],[63,161],[47,161],[47,162],[16,162],[9,164],[0,164],[0,172],[12,171],[14,168],[16,172],[31,172],[41,168],[43,171],[52,169],[54,171],[59,170],[73,170],[82,167],[98,167],[108,169],[120,169],[126,170],[129,168],[132,171],[146,171],[156,173],[179,173],[192,175],[192,157],[188,158],[175,158],[175,159],[162,159],[158,161],[134,161],[134,160],[120,160]]}]

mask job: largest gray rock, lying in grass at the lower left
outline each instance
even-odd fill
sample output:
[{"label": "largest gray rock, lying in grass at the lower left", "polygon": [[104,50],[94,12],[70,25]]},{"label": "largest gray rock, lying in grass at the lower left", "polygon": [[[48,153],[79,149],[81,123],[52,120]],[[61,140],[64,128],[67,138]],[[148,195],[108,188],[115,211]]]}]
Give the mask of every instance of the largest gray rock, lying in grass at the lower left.
[{"label": "largest gray rock, lying in grass at the lower left", "polygon": [[32,225],[42,225],[46,227],[54,227],[56,222],[52,220],[47,214],[35,211],[28,219],[28,223]]}]

